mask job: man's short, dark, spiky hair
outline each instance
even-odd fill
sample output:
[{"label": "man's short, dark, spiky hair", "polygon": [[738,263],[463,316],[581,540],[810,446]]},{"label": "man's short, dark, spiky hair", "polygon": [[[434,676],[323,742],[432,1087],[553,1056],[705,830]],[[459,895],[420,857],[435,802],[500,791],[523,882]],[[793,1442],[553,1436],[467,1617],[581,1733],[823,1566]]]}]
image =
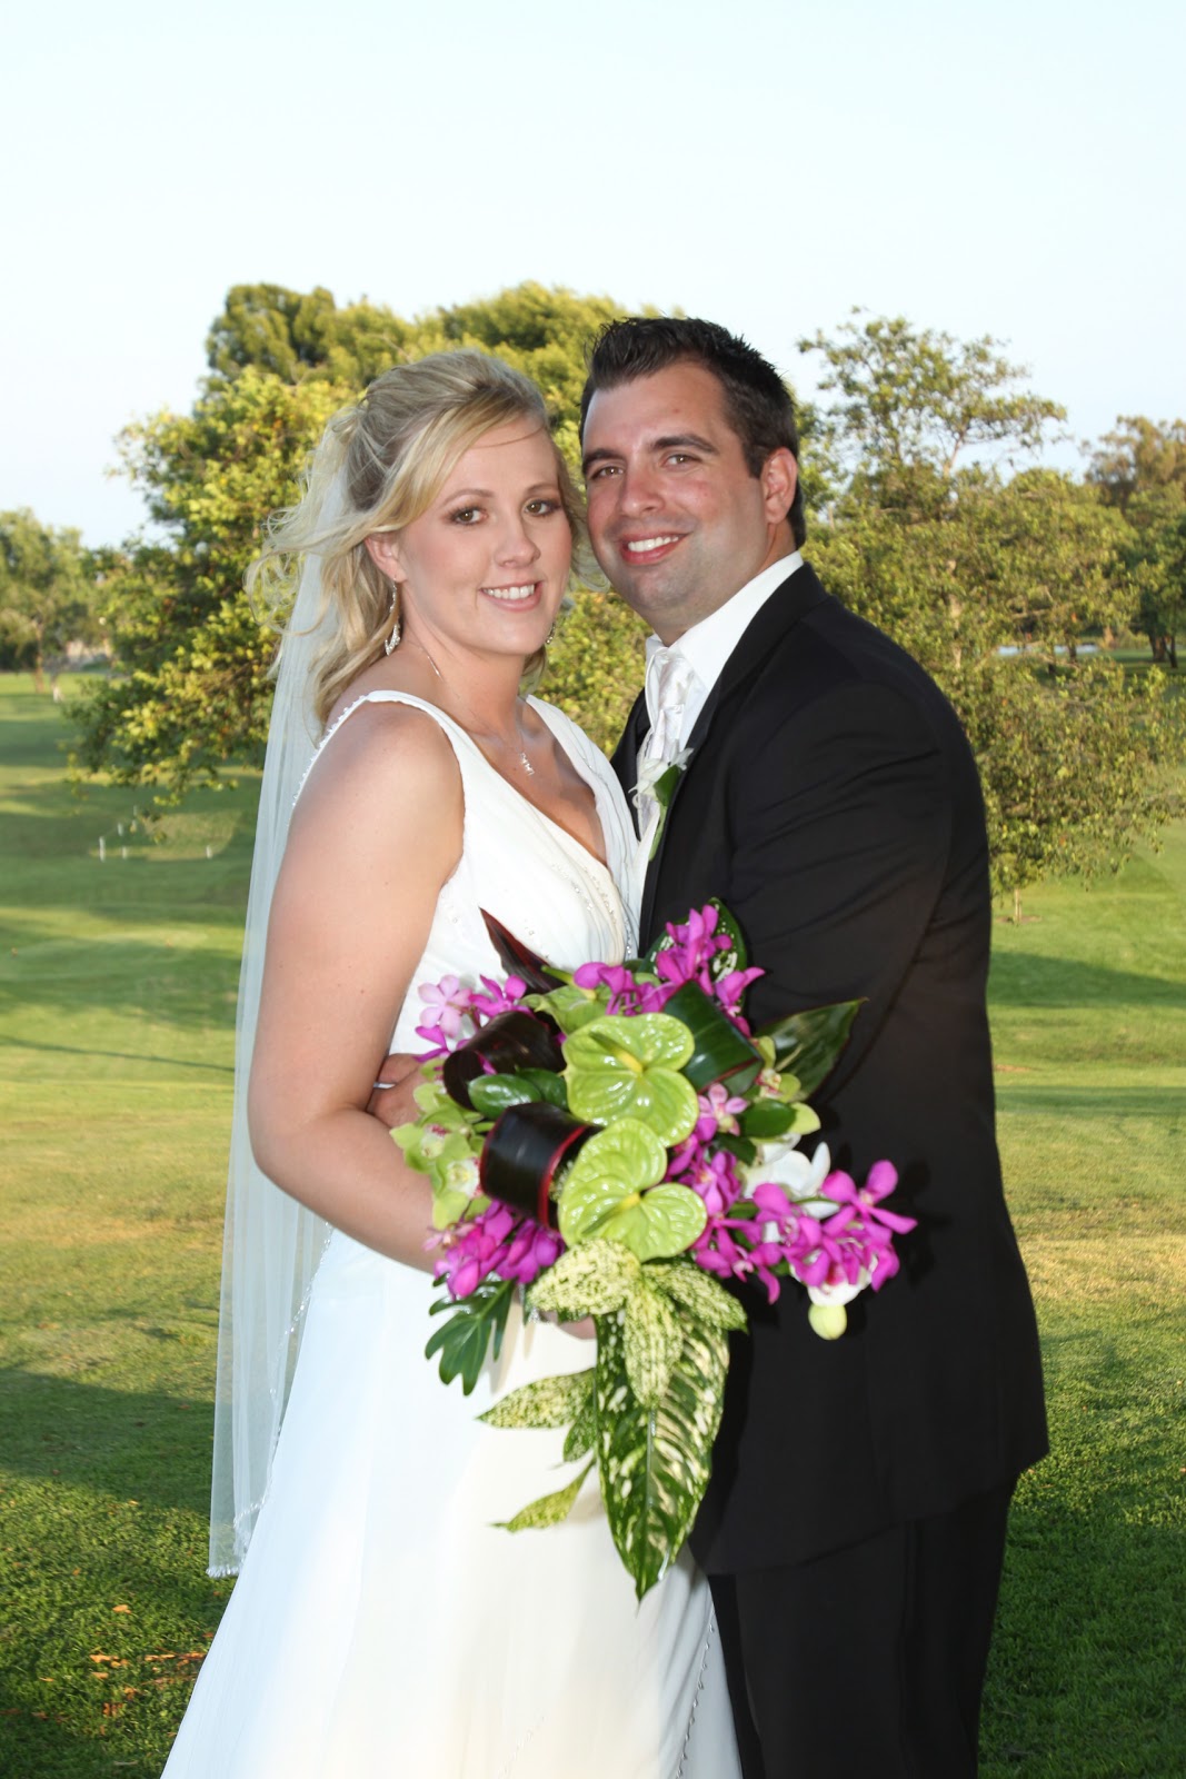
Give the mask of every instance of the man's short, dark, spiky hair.
[{"label": "man's short, dark, spiky hair", "polygon": [[[740,334],[718,322],[690,317],[631,315],[606,322],[589,354],[581,393],[581,438],[589,404],[597,390],[613,390],[638,377],[653,377],[670,365],[702,365],[720,384],[725,418],[741,443],[750,475],[761,475],[766,457],[786,448],[798,461],[795,404],[773,365],[766,363]],[[807,535],[802,482],[788,512],[795,544]]]}]

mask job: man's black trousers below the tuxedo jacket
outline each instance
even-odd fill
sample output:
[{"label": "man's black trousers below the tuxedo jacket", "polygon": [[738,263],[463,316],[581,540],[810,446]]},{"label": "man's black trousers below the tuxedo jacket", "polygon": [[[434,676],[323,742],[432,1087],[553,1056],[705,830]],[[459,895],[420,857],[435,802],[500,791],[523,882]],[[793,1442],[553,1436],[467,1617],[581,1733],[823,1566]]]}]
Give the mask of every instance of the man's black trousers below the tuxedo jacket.
[{"label": "man's black trousers below the tuxedo jacket", "polygon": [[709,1576],[745,1779],[974,1779],[1012,1493]]}]

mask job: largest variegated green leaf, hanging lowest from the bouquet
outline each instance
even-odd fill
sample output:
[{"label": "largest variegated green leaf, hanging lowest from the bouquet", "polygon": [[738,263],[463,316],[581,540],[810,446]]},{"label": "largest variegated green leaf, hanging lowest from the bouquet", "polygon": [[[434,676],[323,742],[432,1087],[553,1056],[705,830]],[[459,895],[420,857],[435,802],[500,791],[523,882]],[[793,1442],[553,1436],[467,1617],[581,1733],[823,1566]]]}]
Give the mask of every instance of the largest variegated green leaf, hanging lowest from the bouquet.
[{"label": "largest variegated green leaf, hanging lowest from the bouquet", "polygon": [[626,1375],[626,1313],[597,1318],[601,1498],[638,1599],[676,1560],[708,1487],[727,1370],[725,1336],[690,1322],[661,1404],[645,1409]]}]

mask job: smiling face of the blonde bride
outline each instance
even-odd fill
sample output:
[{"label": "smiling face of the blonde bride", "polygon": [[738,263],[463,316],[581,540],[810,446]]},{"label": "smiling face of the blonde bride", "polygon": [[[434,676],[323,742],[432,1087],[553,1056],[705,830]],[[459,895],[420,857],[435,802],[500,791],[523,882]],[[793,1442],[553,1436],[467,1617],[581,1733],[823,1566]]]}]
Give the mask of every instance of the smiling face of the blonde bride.
[{"label": "smiling face of the blonde bride", "polygon": [[496,655],[533,655],[564,598],[573,534],[551,439],[530,420],[493,427],[398,535],[368,537],[400,582],[405,633]]}]

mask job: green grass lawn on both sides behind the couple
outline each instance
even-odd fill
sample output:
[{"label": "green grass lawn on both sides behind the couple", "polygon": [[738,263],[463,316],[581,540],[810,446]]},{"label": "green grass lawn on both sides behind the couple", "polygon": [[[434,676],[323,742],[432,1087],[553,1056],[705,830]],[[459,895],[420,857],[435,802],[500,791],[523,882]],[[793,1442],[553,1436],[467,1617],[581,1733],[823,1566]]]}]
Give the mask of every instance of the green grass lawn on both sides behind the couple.
[{"label": "green grass lawn on both sides behind the couple", "polygon": [[[0,678],[0,1772],[155,1779],[229,1589],[206,1491],[254,786],[153,847],[130,793],[71,797],[62,735]],[[983,1774],[1182,1779],[1186,825],[1026,916],[992,1007],[1054,1455],[1014,1510]]]}]

